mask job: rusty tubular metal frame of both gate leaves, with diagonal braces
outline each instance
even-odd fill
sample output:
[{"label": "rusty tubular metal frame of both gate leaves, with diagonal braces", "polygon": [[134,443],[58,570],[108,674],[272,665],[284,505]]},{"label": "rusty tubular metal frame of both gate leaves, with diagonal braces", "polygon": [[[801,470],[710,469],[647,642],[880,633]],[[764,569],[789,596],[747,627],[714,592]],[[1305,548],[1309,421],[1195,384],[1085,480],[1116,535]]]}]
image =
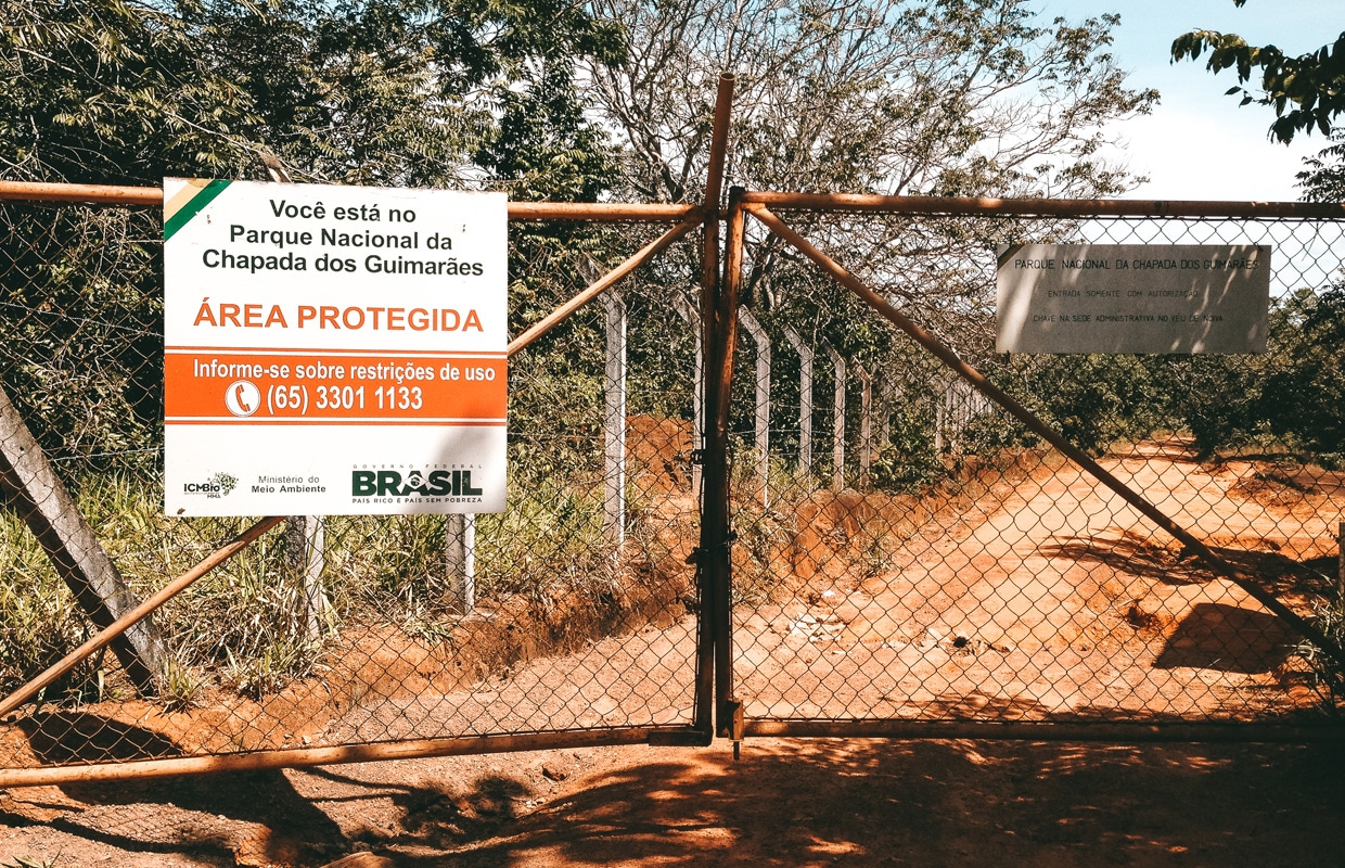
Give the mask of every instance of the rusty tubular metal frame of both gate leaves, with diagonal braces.
[{"label": "rusty tubular metal frame of both gate leaves, with diagonal braces", "polygon": [[[701,540],[693,553],[695,591],[699,596],[697,616],[694,709],[690,725],[623,727],[612,729],[543,732],[527,735],[457,736],[404,740],[377,744],[346,744],[316,748],[269,750],[246,754],[202,755],[174,759],[133,760],[85,766],[55,766],[0,770],[0,787],[38,786],[79,781],[110,781],[169,776],[252,768],[305,767],[420,756],[491,754],[547,748],[573,748],[612,744],[707,746],[716,737],[737,744],[751,736],[878,736],[878,737],[997,737],[1042,740],[1309,740],[1345,739],[1345,727],[1295,727],[1248,723],[1089,723],[1061,721],[927,721],[927,720],[748,720],[742,702],[733,689],[733,622],[732,622],[732,532],[729,417],[733,358],[737,347],[737,311],[744,261],[744,229],[752,215],[767,230],[788,242],[814,261],[834,281],[853,292],[873,311],[913,338],[948,370],[981,394],[1022,421],[1030,431],[1050,443],[1103,486],[1122,497],[1145,517],[1162,528],[1217,575],[1225,576],[1323,653],[1345,665],[1345,651],[1330,642],[1313,624],[1289,610],[1276,598],[1241,575],[1202,541],[1151,505],[1102,466],[1065,440],[1037,416],[990,384],[985,375],[962,361],[921,326],[904,316],[880,293],[815,248],[791,229],[771,209],[807,209],[815,211],[940,214],[940,215],[1072,215],[1072,217],[1315,217],[1345,218],[1345,206],[1297,203],[1228,203],[1228,202],[1139,202],[1139,201],[1050,201],[1050,199],[962,199],[923,196],[868,196],[831,194],[748,192],[733,188],[728,209],[721,211],[725,153],[729,133],[729,106],[733,77],[720,81],[716,104],[710,164],[701,205],[627,205],[627,203],[523,203],[508,206],[511,222],[543,221],[629,221],[674,223],[660,237],[647,244],[613,270],[558,307],[539,323],[508,345],[512,355],[565,322],[570,315],[617,284],[623,277],[652,260],[677,240],[703,233],[701,276],[701,330],[705,358],[705,431],[703,448],[694,456],[701,464],[699,502]],[[85,202],[102,205],[161,205],[157,188],[89,187],[70,184],[0,184],[0,199]],[[721,227],[724,240],[721,246]],[[0,717],[32,698],[81,659],[105,647],[164,602],[243,550],[282,518],[264,518],[225,544],[191,571],[165,584],[110,627],[85,642],[59,663],[42,673],[11,696],[0,700]]]}]

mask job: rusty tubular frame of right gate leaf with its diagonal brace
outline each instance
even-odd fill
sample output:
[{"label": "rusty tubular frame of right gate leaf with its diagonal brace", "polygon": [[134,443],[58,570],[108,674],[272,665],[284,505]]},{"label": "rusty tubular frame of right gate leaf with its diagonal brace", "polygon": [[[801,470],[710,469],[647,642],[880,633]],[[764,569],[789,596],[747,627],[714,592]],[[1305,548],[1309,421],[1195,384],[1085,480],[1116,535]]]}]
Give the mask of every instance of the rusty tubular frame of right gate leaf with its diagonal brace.
[{"label": "rusty tubular frame of right gate leaf with its diagonal brace", "polygon": [[[1325,218],[1340,221],[1345,218],[1345,206],[1332,203],[1254,203],[1254,202],[1162,202],[1162,201],[1065,201],[1065,199],[990,199],[990,198],[936,198],[936,196],[884,196],[862,194],[790,194],[746,191],[733,187],[729,195],[726,214],[728,237],[725,240],[724,276],[720,284],[720,318],[724,326],[721,339],[725,345],[717,347],[717,366],[712,369],[709,388],[720,389],[720,404],[716,406],[714,435],[726,445],[728,432],[728,390],[733,378],[733,351],[737,330],[733,311],[740,303],[742,280],[742,245],[745,215],[751,214],[765,230],[792,246],[798,253],[811,260],[831,280],[850,291],[868,308],[905,332],[927,353],[932,354],[952,374],[967,382],[982,396],[1022,423],[1029,431],[1049,443],[1080,470],[1120,497],[1137,509],[1155,526],[1176,537],[1188,552],[1209,568],[1215,575],[1233,581],[1262,606],[1270,610],[1297,631],[1302,638],[1317,646],[1336,665],[1345,669],[1345,650],[1333,642],[1314,624],[1290,610],[1278,598],[1252,581],[1228,560],[1220,557],[1205,542],[1198,540],[1173,518],[1154,506],[1143,494],[1135,491],[1115,475],[1103,468],[1087,452],[1073,445],[1060,432],[1044,423],[1037,414],[991,384],[981,371],[963,361],[952,349],[940,342],[932,332],[902,315],[890,301],[868,287],[845,266],[814,246],[807,238],[780,219],[771,209],[799,209],[829,213],[869,213],[869,214],[935,214],[935,215],[1064,215],[1064,217],[1233,217],[1233,218]],[[709,437],[707,432],[707,437]],[[709,443],[709,440],[707,440]],[[722,459],[721,455],[716,456]],[[709,468],[707,468],[709,470]],[[718,470],[718,468],[717,468]],[[706,487],[709,502],[712,489]],[[729,493],[725,484],[713,490],[716,501],[725,509]],[[722,536],[712,541],[716,600],[714,627],[716,642],[716,735],[732,739],[737,744],[751,736],[799,736],[799,737],[979,737],[979,739],[1033,739],[1033,740],[1104,740],[1104,742],[1303,742],[1303,740],[1345,740],[1342,721],[1326,725],[1291,725],[1266,723],[1068,723],[1068,721],[929,721],[929,720],[831,720],[831,719],[790,719],[767,720],[746,719],[744,702],[734,694],[733,682],[733,624],[730,607],[732,560],[729,546],[733,534],[728,521]],[[1345,563],[1345,558],[1342,558]]]}]

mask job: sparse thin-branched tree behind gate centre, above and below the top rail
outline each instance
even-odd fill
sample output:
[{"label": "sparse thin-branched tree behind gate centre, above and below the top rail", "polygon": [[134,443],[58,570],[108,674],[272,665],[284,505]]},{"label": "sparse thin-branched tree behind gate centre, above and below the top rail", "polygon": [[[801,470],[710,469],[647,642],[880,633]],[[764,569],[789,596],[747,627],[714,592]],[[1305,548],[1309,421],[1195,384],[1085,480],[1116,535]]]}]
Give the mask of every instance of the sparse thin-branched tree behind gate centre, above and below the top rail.
[{"label": "sparse thin-branched tree behind gate centre, above and below the top rail", "polygon": [[[1132,179],[1098,156],[1103,126],[1157,100],[1126,87],[1108,52],[1118,16],[1041,27],[1026,0],[594,8],[629,46],[624,65],[592,71],[594,100],[629,194],[654,201],[702,196],[720,70],[737,73],[728,180],[757,190],[1115,195]],[[993,285],[968,221],[790,217],[940,336],[989,351]],[[744,297],[759,319],[788,311],[837,347],[876,351],[881,330],[796,261],[779,240],[752,244]]]}]

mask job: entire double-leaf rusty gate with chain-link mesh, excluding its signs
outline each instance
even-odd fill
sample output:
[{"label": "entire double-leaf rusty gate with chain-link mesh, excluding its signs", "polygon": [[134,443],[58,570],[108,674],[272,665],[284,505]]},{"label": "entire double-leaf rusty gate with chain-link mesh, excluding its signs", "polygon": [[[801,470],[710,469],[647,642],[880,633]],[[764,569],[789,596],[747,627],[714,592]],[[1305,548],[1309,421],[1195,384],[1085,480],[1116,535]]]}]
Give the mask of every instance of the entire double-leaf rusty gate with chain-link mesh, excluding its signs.
[{"label": "entire double-leaf rusty gate with chain-link mesh, excluding its signs", "polygon": [[[160,515],[160,194],[7,187],[0,786],[716,735],[1338,737],[1341,209],[721,214],[730,89],[701,206],[511,205],[500,515]],[[1271,351],[997,355],[1021,241],[1274,244]]]}]

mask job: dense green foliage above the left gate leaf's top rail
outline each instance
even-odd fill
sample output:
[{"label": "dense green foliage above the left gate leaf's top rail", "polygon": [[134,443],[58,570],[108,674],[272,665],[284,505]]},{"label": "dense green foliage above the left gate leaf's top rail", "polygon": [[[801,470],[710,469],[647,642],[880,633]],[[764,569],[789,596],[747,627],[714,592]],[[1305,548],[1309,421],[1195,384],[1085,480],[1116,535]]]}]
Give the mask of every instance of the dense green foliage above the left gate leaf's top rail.
[{"label": "dense green foliage above the left gate leaf's top rail", "polygon": [[31,180],[237,178],[269,151],[297,178],[463,186],[515,82],[573,102],[576,63],[623,51],[558,0],[0,0],[0,175]]}]

